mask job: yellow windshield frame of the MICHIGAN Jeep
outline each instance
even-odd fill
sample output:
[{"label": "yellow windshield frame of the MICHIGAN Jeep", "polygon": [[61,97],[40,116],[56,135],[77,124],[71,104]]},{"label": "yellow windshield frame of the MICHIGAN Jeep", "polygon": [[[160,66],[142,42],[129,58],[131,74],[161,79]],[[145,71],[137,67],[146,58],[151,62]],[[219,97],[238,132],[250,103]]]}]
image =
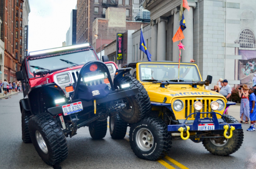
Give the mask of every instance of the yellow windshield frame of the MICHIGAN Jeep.
[{"label": "yellow windshield frame of the MICHIGAN Jeep", "polygon": [[[139,81],[143,82],[143,83],[152,83],[153,82],[153,81],[145,81],[145,80],[141,79],[141,70],[140,70],[140,68],[141,68],[141,65],[143,65],[143,64],[145,64],[145,65],[148,65],[148,64],[152,64],[152,65],[179,65],[179,63],[175,63],[175,62],[174,63],[173,62],[171,62],[171,63],[170,62],[141,62],[141,63],[137,63],[136,71],[137,71],[137,76],[139,75],[139,77],[137,77],[137,79]],[[199,69],[198,69],[198,67],[197,67],[197,65],[195,63],[181,63],[180,64],[180,66],[189,66],[189,65],[190,66],[191,65],[195,66],[197,75],[199,77],[198,81],[202,81],[201,74],[200,74]],[[157,79],[157,80],[159,80],[160,82],[161,81],[164,81],[164,82],[166,81],[166,80],[160,80],[160,79]],[[183,82],[183,81],[181,81],[181,82]],[[170,81],[170,83],[176,84],[176,83],[179,83],[179,82]],[[185,82],[183,82],[183,83],[191,83],[191,81],[188,81],[188,80],[186,81],[185,80]]]}]

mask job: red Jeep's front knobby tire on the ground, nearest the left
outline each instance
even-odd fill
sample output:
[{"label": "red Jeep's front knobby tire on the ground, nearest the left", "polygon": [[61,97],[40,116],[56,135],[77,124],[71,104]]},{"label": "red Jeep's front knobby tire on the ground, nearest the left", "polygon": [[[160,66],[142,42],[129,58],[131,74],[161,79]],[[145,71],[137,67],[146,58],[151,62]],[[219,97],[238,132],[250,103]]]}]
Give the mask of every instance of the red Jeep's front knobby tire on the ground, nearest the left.
[{"label": "red Jeep's front knobby tire on the ground, nearest the left", "polygon": [[29,133],[37,153],[46,164],[53,166],[68,157],[64,132],[50,114],[33,116],[29,120]]}]

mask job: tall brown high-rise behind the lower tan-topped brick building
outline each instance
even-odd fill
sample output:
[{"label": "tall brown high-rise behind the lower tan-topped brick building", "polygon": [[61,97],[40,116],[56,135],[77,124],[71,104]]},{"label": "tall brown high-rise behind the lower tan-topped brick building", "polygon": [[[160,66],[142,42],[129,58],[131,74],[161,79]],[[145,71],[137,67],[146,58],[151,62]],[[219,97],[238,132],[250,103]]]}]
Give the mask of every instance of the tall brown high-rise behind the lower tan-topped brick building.
[{"label": "tall brown high-rise behind the lower tan-topped brick building", "polygon": [[126,11],[125,20],[133,20],[133,0],[77,0],[76,44],[93,41],[93,21],[105,18],[108,7],[123,8]]}]

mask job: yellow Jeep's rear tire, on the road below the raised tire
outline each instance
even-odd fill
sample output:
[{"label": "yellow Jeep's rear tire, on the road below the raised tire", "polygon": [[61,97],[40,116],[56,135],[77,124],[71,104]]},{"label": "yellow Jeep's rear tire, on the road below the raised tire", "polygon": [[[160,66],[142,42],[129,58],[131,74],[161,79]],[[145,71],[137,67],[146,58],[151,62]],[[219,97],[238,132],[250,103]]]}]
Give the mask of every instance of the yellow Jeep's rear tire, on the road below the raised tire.
[{"label": "yellow Jeep's rear tire, on the road below the raised tire", "polygon": [[118,114],[109,117],[109,132],[114,139],[123,139],[126,135],[127,122],[122,120]]}]

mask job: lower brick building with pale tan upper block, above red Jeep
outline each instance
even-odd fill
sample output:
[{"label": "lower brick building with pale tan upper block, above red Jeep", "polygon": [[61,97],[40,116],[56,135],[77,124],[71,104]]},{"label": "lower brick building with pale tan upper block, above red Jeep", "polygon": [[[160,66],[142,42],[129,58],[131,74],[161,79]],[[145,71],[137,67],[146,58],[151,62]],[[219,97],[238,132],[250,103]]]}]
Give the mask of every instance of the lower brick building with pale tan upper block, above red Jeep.
[{"label": "lower brick building with pale tan upper block, above red Jeep", "polygon": [[96,18],[93,21],[92,46],[95,49],[100,47],[100,36],[95,37],[95,34],[101,34],[102,45],[109,44],[117,38],[117,33],[123,33],[126,30],[139,30],[141,24],[144,26],[148,22],[128,21],[126,20],[126,9],[109,7],[106,10],[106,18]]}]

